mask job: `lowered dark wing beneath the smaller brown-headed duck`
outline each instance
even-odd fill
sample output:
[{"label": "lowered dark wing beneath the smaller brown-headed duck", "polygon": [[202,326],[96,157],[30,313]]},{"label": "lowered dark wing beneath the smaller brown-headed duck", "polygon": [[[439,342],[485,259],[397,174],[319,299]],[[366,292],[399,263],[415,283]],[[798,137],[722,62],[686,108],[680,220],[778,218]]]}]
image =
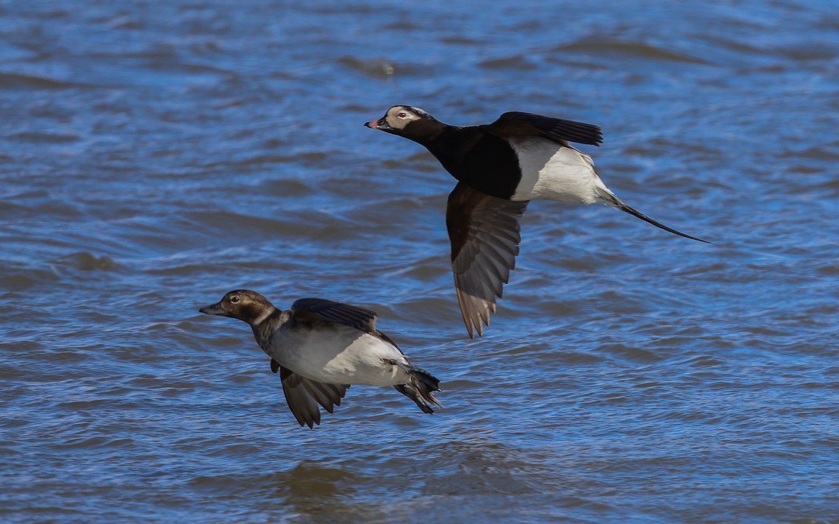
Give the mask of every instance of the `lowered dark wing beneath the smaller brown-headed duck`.
[{"label": "lowered dark wing beneath the smaller brown-headed duck", "polygon": [[279,378],[283,382],[285,402],[288,402],[294,418],[300,426],[309,426],[309,428],[320,424],[318,404],[326,408],[326,411],[332,412],[335,406],[341,405],[341,398],[349,389],[349,386],[345,384],[324,384],[312,381],[282,366],[279,368]]}]

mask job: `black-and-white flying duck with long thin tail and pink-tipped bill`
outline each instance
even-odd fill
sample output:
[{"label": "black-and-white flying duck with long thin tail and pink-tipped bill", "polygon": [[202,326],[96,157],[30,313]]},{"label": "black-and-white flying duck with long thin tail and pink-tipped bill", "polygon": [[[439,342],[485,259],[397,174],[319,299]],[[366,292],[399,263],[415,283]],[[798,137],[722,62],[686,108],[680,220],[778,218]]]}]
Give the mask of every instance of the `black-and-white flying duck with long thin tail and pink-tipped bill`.
[{"label": "black-and-white flying duck with long thin tail and pink-tipped bill", "polygon": [[448,126],[419,107],[393,106],[364,124],[427,148],[457,179],[446,207],[457,300],[470,337],[483,335],[519,254],[519,219],[530,200],[605,204],[664,231],[603,184],[591,157],[569,143],[600,145],[600,127],[506,112],[482,126]]}]

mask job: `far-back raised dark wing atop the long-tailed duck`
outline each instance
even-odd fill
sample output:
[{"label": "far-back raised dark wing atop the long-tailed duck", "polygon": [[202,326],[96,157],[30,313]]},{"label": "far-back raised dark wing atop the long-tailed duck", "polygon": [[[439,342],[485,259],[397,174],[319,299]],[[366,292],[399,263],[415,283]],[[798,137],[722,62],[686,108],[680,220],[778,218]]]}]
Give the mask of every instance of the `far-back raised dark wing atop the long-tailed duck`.
[{"label": "far-back raised dark wing atop the long-tailed duck", "polygon": [[599,146],[603,142],[598,126],[516,111],[498,117],[487,131],[499,137],[545,137],[563,145],[576,142]]}]

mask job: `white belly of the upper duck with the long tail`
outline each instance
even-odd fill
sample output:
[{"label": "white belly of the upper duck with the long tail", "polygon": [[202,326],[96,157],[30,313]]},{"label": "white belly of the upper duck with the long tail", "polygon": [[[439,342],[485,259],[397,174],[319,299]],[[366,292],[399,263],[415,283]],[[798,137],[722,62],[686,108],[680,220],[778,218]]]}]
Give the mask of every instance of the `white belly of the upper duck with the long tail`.
[{"label": "white belly of the upper duck with the long tail", "polygon": [[575,148],[547,138],[511,140],[519,157],[522,179],[511,200],[558,200],[594,204],[607,189],[594,171],[594,161]]}]

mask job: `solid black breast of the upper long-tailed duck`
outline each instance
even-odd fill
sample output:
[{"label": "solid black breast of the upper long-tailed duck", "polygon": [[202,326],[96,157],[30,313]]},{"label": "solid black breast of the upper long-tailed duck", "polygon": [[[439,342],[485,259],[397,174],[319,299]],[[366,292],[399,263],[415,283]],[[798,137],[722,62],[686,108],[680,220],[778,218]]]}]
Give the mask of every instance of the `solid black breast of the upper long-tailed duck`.
[{"label": "solid black breast of the upper long-tailed duck", "polygon": [[486,195],[509,200],[522,174],[507,140],[481,127],[454,128],[428,146],[451,176]]}]

